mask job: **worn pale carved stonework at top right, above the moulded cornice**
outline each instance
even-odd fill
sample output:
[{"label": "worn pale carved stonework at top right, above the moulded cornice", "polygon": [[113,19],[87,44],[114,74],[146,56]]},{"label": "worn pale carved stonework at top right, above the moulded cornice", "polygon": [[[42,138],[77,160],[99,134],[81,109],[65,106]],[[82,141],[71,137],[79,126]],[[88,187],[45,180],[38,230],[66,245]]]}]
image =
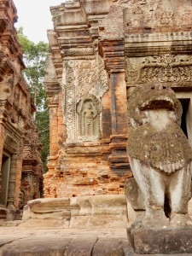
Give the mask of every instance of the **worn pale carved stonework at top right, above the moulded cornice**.
[{"label": "worn pale carved stonework at top right, above the moulded cornice", "polygon": [[192,3],[188,0],[126,1],[125,31],[178,31],[192,25]]}]

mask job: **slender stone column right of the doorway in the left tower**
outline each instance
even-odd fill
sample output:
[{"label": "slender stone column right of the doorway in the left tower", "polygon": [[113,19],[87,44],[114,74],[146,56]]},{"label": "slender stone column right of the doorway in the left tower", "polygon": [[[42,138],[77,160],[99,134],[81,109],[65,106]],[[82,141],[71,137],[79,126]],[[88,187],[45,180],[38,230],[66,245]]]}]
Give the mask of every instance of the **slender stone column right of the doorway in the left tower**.
[{"label": "slender stone column right of the doorway in the left tower", "polygon": [[17,166],[18,154],[12,154],[10,162],[10,174],[9,174],[9,192],[8,192],[8,210],[6,220],[15,220],[15,205],[14,205],[14,193],[15,193],[15,172]]}]

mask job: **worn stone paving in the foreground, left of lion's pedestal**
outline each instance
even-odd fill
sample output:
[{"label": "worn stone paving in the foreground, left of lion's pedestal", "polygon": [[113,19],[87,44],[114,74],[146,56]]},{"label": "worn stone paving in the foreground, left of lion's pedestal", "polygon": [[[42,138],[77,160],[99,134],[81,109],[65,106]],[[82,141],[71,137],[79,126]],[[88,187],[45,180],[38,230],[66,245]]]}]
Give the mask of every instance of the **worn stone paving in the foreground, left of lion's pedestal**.
[{"label": "worn stone paving in the foreground, left of lion's pedestal", "polygon": [[[0,227],[0,256],[143,255],[133,253],[125,229],[25,229],[13,224],[18,223],[8,222]],[[157,255],[168,256],[154,254]]]}]

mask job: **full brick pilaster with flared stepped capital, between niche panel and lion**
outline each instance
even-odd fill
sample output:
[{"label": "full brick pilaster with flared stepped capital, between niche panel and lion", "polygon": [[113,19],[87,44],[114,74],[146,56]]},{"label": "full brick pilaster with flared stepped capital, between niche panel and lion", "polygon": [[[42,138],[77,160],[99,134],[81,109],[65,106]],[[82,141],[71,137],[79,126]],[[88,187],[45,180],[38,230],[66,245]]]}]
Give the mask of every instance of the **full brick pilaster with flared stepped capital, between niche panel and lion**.
[{"label": "full brick pilaster with flared stepped capital, between niche panel and lion", "polygon": [[[113,50],[112,50],[113,49]],[[131,176],[131,169],[126,154],[127,109],[125,84],[125,57],[123,40],[101,40],[99,53],[102,55],[110,76],[111,91],[111,154],[108,157],[115,175]]]}]

